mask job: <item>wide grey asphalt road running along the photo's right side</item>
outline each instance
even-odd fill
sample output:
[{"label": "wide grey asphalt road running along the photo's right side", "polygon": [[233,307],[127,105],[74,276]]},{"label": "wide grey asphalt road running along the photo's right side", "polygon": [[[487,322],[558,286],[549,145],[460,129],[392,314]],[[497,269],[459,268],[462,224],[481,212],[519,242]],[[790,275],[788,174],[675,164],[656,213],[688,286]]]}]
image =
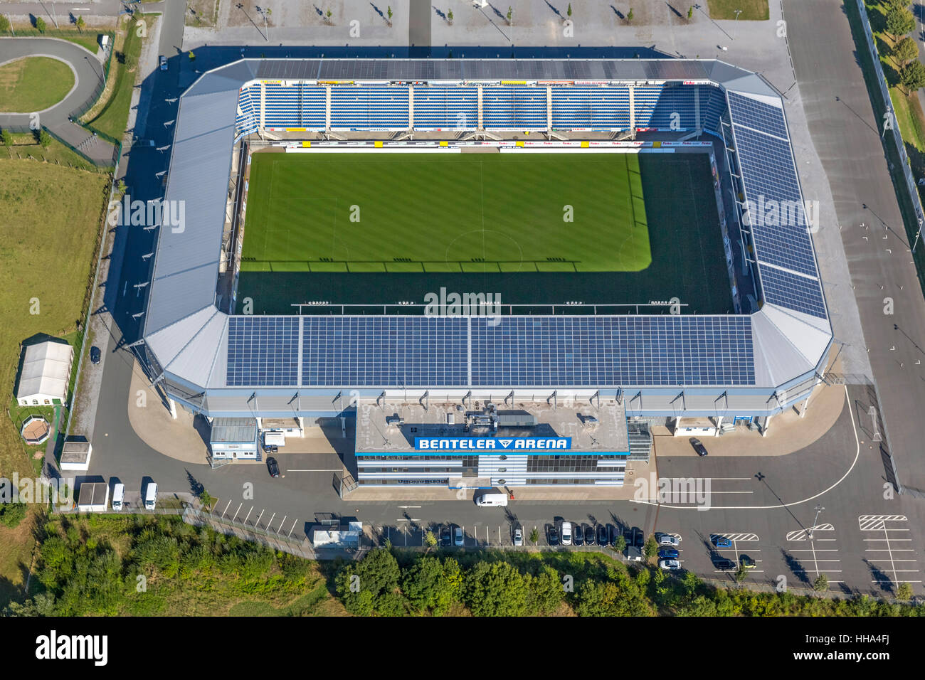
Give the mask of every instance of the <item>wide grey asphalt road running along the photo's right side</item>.
[{"label": "wide grey asphalt road running along the photo's right side", "polygon": [[[902,484],[925,488],[925,300],[841,0],[784,2],[809,131],[832,188]],[[885,238],[884,238],[885,237]],[[884,310],[892,303],[894,314]],[[837,340],[837,339],[836,339]]]}]

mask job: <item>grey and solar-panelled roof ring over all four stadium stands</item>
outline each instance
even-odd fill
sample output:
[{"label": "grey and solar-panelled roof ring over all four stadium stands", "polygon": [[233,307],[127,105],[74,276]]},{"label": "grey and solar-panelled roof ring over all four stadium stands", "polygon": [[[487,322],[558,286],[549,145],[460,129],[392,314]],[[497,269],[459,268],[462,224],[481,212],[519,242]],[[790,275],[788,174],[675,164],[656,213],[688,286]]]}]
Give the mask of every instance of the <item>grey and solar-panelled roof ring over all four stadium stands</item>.
[{"label": "grey and solar-panelled roof ring over all four stadium stands", "polygon": [[[585,321],[579,317],[515,317],[501,325],[508,332],[522,328],[540,344],[551,342],[549,346],[560,352],[551,362],[549,356],[526,352],[518,357],[520,363],[512,363],[511,347],[487,337],[481,327],[484,320],[479,319],[378,317],[379,324],[391,324],[390,330],[400,334],[413,332],[415,323],[432,323],[438,325],[439,333],[455,334],[456,340],[424,351],[392,346],[387,352],[335,356],[332,352],[337,351],[342,333],[352,333],[361,346],[375,339],[382,330],[375,326],[376,317],[229,316],[216,308],[216,280],[236,108],[240,88],[264,79],[710,81],[721,85],[729,98],[746,198],[760,193],[802,205],[780,96],[756,74],[721,61],[241,59],[203,74],[180,98],[165,200],[185,203],[185,223],[159,229],[143,332],[161,370],[187,386],[191,394],[209,390],[217,400],[228,401],[223,413],[239,413],[240,408],[230,405],[237,401],[240,406],[240,399],[233,395],[244,389],[253,398],[257,392],[252,395],[251,390],[256,388],[292,392],[298,388],[523,384],[773,390],[811,375],[831,344],[832,330],[808,230],[757,225],[752,231],[766,300],[758,313],[583,317]],[[536,322],[544,319],[546,326],[536,328]],[[633,323],[627,326],[627,320]],[[328,330],[336,335],[328,335],[327,340],[311,336],[309,341],[319,323],[333,324]],[[598,353],[579,352],[579,343],[572,344],[578,337],[573,333],[590,332],[588,323],[607,340],[598,345]],[[601,324],[608,326],[601,330]],[[700,354],[692,354],[691,339],[702,339],[704,333],[713,334],[715,343],[708,347],[701,342]],[[622,357],[623,365],[615,364],[614,357]],[[559,365],[556,359],[561,360]],[[454,365],[450,373],[439,367],[444,364]],[[316,370],[319,366],[324,370]],[[499,371],[499,366],[510,370]],[[280,414],[290,411],[290,406],[279,409]]]}]

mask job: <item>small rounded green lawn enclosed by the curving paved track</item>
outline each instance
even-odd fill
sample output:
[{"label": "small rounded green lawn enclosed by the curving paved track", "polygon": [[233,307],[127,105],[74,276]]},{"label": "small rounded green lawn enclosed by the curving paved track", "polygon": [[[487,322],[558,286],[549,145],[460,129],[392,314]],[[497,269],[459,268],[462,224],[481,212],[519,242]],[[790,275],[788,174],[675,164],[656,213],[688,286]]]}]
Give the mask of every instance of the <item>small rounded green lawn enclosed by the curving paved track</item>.
[{"label": "small rounded green lawn enclosed by the curving paved track", "polygon": [[74,72],[49,56],[29,56],[0,67],[0,111],[43,111],[74,87]]}]

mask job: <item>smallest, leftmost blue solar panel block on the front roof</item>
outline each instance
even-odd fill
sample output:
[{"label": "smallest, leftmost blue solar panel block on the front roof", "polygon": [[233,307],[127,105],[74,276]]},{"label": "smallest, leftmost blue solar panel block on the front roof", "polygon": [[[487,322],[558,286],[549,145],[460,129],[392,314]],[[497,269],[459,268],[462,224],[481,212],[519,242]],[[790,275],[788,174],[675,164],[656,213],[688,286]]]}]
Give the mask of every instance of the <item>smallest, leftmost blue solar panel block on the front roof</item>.
[{"label": "smallest, leftmost blue solar panel block on the front roof", "polygon": [[299,319],[232,316],[228,325],[228,386],[297,385]]}]

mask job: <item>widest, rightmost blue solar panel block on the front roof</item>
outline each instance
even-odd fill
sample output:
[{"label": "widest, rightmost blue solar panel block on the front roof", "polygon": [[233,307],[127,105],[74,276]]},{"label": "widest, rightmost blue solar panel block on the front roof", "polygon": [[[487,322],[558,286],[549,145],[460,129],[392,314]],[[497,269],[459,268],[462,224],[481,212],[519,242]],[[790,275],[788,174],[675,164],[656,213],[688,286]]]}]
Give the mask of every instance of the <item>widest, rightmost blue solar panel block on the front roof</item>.
[{"label": "widest, rightmost blue solar panel block on the front roof", "polygon": [[749,385],[749,316],[472,319],[472,385]]}]

